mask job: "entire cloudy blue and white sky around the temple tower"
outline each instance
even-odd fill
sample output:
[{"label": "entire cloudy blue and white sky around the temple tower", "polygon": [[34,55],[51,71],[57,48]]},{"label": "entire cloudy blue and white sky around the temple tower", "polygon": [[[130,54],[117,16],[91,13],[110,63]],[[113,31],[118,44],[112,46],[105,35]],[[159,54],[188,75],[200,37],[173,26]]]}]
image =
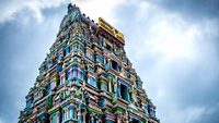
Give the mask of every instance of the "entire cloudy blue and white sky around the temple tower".
[{"label": "entire cloudy blue and white sky around the temple tower", "polygon": [[0,0],[0,123],[16,123],[68,3],[124,33],[161,123],[219,123],[218,0]]}]

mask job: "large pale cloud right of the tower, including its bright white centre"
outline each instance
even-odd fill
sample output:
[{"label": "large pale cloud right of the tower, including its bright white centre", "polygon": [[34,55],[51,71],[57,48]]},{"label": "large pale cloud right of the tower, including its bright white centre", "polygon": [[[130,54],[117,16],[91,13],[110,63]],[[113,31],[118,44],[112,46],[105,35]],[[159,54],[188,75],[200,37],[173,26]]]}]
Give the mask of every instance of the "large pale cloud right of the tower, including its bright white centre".
[{"label": "large pale cloud right of the tower, including its bright white centre", "polygon": [[214,123],[218,112],[206,112],[219,100],[219,16],[191,20],[164,7],[132,1],[117,10],[127,54],[158,106],[161,122],[196,123],[205,118]]}]

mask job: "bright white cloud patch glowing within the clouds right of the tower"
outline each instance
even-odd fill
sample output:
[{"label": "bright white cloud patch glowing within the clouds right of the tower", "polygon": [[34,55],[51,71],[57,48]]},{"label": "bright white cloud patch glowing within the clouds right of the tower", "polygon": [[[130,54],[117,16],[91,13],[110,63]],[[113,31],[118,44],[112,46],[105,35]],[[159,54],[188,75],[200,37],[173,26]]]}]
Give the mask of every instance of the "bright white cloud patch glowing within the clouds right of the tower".
[{"label": "bright white cloud patch glowing within the clouds right of the tower", "polygon": [[[146,3],[145,3],[146,4]],[[155,14],[151,14],[151,12]],[[136,38],[136,48],[146,47],[148,51],[135,50],[138,56],[136,59],[153,53],[161,56],[165,60],[194,59],[197,57],[196,39],[201,36],[200,25],[187,24],[186,20],[177,14],[165,13],[154,5],[139,5],[136,13],[139,22],[140,39]],[[146,21],[145,24],[140,21]],[[138,34],[139,35],[139,34]]]}]

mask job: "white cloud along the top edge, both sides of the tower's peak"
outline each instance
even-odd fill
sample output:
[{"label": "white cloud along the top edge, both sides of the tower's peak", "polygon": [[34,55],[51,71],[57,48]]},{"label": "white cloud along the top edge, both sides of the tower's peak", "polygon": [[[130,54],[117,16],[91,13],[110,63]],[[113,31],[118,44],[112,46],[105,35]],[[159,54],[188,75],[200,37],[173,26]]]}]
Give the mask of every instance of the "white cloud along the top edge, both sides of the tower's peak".
[{"label": "white cloud along the top edge, both sides of the tower's peak", "polygon": [[[33,16],[38,21],[43,21],[42,10],[47,8],[55,8],[61,4],[76,3],[80,7],[82,12],[87,13],[91,19],[97,21],[99,16],[103,16],[110,20],[111,23],[115,23],[116,19],[113,17],[113,9],[116,5],[122,4],[125,0],[14,0],[2,4],[0,23],[4,21],[15,20],[14,14],[30,10],[33,12]],[[7,5],[7,7],[3,7]],[[92,10],[92,11],[91,11]],[[28,15],[27,15],[28,16]]]}]

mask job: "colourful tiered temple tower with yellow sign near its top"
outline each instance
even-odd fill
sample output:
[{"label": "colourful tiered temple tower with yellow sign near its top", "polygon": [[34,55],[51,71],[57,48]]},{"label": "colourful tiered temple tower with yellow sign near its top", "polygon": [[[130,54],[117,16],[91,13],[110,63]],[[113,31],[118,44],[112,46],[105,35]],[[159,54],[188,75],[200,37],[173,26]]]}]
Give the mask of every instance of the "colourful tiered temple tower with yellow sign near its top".
[{"label": "colourful tiered temple tower with yellow sign near its top", "polygon": [[19,123],[159,123],[124,35],[68,5]]}]

